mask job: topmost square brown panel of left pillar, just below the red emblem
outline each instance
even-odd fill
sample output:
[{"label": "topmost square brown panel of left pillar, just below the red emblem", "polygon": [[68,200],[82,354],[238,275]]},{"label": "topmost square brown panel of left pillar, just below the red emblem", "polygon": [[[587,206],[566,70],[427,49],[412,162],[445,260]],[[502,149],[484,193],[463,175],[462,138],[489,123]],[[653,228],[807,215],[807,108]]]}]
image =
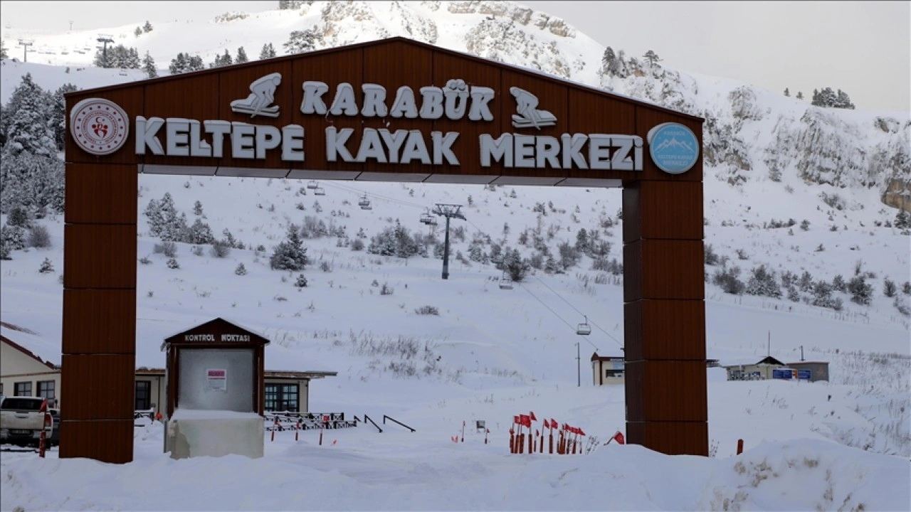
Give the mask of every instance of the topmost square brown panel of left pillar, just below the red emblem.
[{"label": "topmost square brown panel of left pillar, just below the red emblem", "polygon": [[67,223],[136,224],[135,165],[68,163],[66,179]]}]

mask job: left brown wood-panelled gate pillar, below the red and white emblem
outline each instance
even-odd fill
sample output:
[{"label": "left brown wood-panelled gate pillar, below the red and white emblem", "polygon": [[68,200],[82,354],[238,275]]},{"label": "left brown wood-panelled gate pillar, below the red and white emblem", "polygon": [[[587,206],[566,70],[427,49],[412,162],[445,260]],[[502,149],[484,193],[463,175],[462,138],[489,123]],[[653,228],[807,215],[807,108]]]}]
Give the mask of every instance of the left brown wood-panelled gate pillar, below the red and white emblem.
[{"label": "left brown wood-panelled gate pillar, below the red and white emblem", "polygon": [[133,460],[136,165],[67,162],[60,457]]}]

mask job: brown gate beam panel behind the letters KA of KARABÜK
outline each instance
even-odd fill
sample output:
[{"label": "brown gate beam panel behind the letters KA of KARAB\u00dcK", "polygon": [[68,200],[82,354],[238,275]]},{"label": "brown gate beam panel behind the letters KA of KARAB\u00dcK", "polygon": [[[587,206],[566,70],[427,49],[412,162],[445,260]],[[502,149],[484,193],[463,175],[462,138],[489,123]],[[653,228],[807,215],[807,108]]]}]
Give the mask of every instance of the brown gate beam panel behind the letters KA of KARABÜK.
[{"label": "brown gate beam panel behind the letters KA of KARAB\u00dcK", "polygon": [[348,117],[301,113],[302,84],[306,81],[320,81],[329,86],[329,91],[322,95],[327,109],[332,108],[336,87],[343,82],[351,84],[354,88],[354,97],[357,98],[357,106],[362,107],[363,94],[360,87],[363,84],[363,49],[325,55],[304,54],[299,60],[293,61],[292,70],[292,80],[289,83],[297,87],[294,91],[294,101],[297,103],[295,119],[297,119],[297,124],[304,129],[303,150],[306,160],[292,162],[290,167],[292,169],[363,170],[363,164],[347,163],[342,161],[341,157],[336,162],[326,161],[325,130],[329,127],[338,130],[354,129],[354,133],[348,138],[345,147],[348,148],[352,157],[357,156],[363,131],[360,114],[356,117]]}]

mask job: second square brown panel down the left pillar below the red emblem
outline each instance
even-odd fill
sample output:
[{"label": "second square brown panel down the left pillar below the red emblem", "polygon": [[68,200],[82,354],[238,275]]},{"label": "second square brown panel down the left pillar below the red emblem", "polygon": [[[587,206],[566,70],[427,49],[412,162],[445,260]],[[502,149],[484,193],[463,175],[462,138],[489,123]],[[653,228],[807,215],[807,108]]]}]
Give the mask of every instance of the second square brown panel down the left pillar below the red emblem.
[{"label": "second square brown panel down the left pillar below the red emblem", "polygon": [[136,289],[136,224],[67,224],[64,288]]}]

